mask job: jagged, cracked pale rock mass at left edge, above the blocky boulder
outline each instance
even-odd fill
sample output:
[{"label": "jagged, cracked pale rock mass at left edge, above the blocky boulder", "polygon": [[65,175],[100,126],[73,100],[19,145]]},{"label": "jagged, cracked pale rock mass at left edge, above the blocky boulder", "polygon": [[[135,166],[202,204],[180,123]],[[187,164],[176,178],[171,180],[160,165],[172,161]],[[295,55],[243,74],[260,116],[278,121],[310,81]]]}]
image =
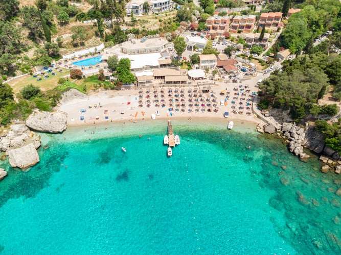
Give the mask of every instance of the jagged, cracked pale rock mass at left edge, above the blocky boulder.
[{"label": "jagged, cracked pale rock mass at left edge, above the blocky boulder", "polygon": [[31,132],[25,124],[11,125],[10,131],[0,136],[0,150],[8,151],[17,147],[22,147],[32,142],[35,148],[40,146],[40,136]]}]

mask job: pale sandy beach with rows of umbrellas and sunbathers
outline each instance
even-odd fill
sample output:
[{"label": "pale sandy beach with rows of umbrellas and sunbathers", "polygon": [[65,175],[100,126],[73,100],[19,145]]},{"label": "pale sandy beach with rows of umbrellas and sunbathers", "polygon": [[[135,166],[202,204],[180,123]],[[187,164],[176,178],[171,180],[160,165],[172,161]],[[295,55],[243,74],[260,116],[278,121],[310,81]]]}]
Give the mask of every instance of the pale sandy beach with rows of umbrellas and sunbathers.
[{"label": "pale sandy beach with rows of umbrellas and sunbathers", "polygon": [[[69,101],[58,110],[67,113],[69,126],[128,121],[139,125],[141,121],[151,120],[152,114],[156,119],[202,119],[209,122],[215,119],[227,123],[233,120],[237,124],[255,125],[262,122],[252,113],[257,88],[246,82],[220,82],[210,87],[207,93],[202,92],[202,86],[103,90],[89,93],[86,100]],[[224,117],[224,112],[229,112],[228,118]]]}]

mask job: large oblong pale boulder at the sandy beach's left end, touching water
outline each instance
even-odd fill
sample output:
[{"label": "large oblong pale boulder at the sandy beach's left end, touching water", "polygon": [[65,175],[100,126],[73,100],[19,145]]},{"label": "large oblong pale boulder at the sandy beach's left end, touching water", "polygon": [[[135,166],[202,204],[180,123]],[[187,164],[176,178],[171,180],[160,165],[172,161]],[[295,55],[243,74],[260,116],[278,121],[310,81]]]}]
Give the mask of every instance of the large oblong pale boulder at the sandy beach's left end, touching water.
[{"label": "large oblong pale boulder at the sandy beach's left end, touching water", "polygon": [[67,114],[65,112],[33,112],[26,120],[26,125],[30,129],[59,133],[66,129],[67,126]]}]

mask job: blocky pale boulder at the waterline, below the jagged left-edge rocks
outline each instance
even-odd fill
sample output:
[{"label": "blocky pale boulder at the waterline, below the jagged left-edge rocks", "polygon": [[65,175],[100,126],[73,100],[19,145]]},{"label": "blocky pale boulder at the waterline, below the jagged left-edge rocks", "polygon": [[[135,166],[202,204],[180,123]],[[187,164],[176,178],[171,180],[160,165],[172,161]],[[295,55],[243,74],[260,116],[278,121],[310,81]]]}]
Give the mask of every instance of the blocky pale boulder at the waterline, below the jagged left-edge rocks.
[{"label": "blocky pale boulder at the waterline, below the jagged left-edge rocks", "polygon": [[21,148],[10,150],[8,156],[10,165],[21,169],[34,166],[40,161],[38,152],[32,143]]}]

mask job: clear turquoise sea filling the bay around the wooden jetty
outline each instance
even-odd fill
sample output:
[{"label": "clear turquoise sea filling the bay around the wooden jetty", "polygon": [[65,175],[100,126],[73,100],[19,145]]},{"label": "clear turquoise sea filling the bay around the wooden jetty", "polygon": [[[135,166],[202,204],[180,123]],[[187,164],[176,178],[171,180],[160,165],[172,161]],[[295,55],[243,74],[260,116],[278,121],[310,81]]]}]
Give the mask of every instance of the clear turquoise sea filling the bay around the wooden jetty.
[{"label": "clear turquoise sea filling the bay around the wooden jetty", "polygon": [[41,134],[28,172],[0,162],[0,253],[341,252],[340,178],[316,157],[244,126],[172,124],[171,158],[157,120]]}]

